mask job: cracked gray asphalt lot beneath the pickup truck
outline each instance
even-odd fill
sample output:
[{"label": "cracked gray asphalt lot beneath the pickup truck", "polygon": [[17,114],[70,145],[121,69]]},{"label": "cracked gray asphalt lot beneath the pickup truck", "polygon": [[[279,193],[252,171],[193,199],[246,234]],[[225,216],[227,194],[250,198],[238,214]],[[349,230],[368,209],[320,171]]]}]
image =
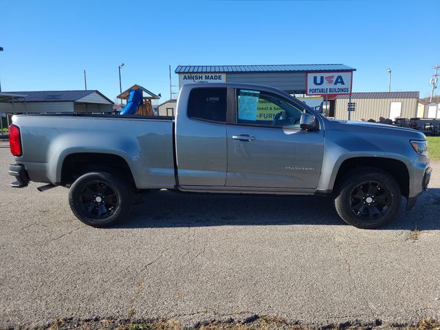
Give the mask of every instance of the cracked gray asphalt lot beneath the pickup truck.
[{"label": "cracked gray asphalt lot beneath the pickup truck", "polygon": [[415,210],[403,202],[380,230],[345,225],[329,198],[165,190],[138,196],[117,228],[90,228],[66,188],[10,188],[10,162],[0,142],[0,328],[69,317],[440,318],[440,162]]}]

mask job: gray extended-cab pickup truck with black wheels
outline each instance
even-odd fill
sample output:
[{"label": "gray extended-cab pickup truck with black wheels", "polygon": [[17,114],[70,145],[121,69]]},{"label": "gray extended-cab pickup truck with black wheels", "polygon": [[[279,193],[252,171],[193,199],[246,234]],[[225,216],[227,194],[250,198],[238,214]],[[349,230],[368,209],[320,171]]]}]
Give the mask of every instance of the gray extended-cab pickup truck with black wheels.
[{"label": "gray extended-cab pickup truck with black wheels", "polygon": [[[133,192],[329,195],[358,228],[384,225],[430,180],[423,133],[328,120],[272,87],[185,85],[175,118],[14,115],[9,173],[65,186],[95,227],[126,218]],[[287,207],[287,206],[286,206]],[[298,206],[296,206],[298,207]],[[146,211],[148,212],[148,211]],[[313,221],[313,219],[310,219]]]}]

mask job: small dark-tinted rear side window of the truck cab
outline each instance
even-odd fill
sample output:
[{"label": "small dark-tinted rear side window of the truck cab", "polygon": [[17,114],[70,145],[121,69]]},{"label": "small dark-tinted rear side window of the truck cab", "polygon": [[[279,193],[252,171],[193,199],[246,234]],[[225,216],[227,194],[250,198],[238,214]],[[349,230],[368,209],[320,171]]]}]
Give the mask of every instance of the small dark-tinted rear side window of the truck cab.
[{"label": "small dark-tinted rear side window of the truck cab", "polygon": [[195,88],[188,100],[188,116],[190,118],[226,121],[226,89]]}]

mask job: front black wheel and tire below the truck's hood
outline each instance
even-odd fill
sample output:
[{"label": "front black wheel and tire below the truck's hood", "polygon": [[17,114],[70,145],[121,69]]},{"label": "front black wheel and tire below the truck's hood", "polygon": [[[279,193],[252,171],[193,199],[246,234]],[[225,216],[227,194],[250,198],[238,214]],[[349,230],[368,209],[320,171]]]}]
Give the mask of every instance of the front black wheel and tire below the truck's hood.
[{"label": "front black wheel and tire below the truck's hood", "polygon": [[357,228],[379,228],[400,208],[401,191],[395,179],[377,168],[355,170],[337,190],[335,208],[342,220]]}]

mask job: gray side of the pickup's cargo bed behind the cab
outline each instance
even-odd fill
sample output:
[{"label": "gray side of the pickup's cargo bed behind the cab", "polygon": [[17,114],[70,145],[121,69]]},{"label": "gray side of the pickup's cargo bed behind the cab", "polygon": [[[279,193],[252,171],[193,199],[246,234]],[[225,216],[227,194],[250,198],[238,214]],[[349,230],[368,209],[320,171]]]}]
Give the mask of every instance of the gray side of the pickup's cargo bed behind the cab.
[{"label": "gray side of the pickup's cargo bed behind the cab", "polygon": [[64,159],[72,153],[122,157],[135,186],[173,188],[173,118],[137,115],[14,115],[21,128],[23,156],[30,179],[59,184]]}]

